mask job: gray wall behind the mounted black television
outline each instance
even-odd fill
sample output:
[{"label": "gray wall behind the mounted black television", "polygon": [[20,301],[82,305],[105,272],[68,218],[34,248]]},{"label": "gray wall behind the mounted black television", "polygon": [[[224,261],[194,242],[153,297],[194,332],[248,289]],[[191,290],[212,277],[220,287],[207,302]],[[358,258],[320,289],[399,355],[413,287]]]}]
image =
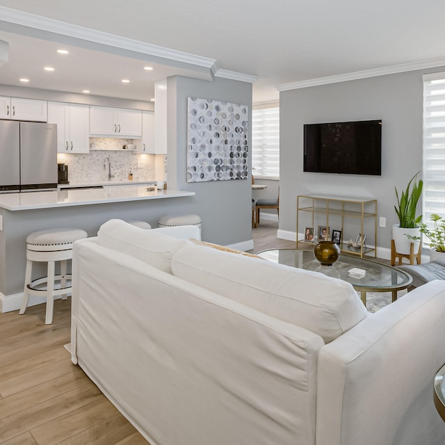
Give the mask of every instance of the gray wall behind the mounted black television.
[{"label": "gray wall behind the mounted black television", "polygon": [[[280,230],[296,232],[298,195],[375,197],[378,216],[387,219],[378,227],[378,246],[389,249],[397,223],[394,186],[400,191],[422,170],[422,74],[444,69],[280,92]],[[303,172],[303,124],[372,119],[382,119],[381,176]]]}]

